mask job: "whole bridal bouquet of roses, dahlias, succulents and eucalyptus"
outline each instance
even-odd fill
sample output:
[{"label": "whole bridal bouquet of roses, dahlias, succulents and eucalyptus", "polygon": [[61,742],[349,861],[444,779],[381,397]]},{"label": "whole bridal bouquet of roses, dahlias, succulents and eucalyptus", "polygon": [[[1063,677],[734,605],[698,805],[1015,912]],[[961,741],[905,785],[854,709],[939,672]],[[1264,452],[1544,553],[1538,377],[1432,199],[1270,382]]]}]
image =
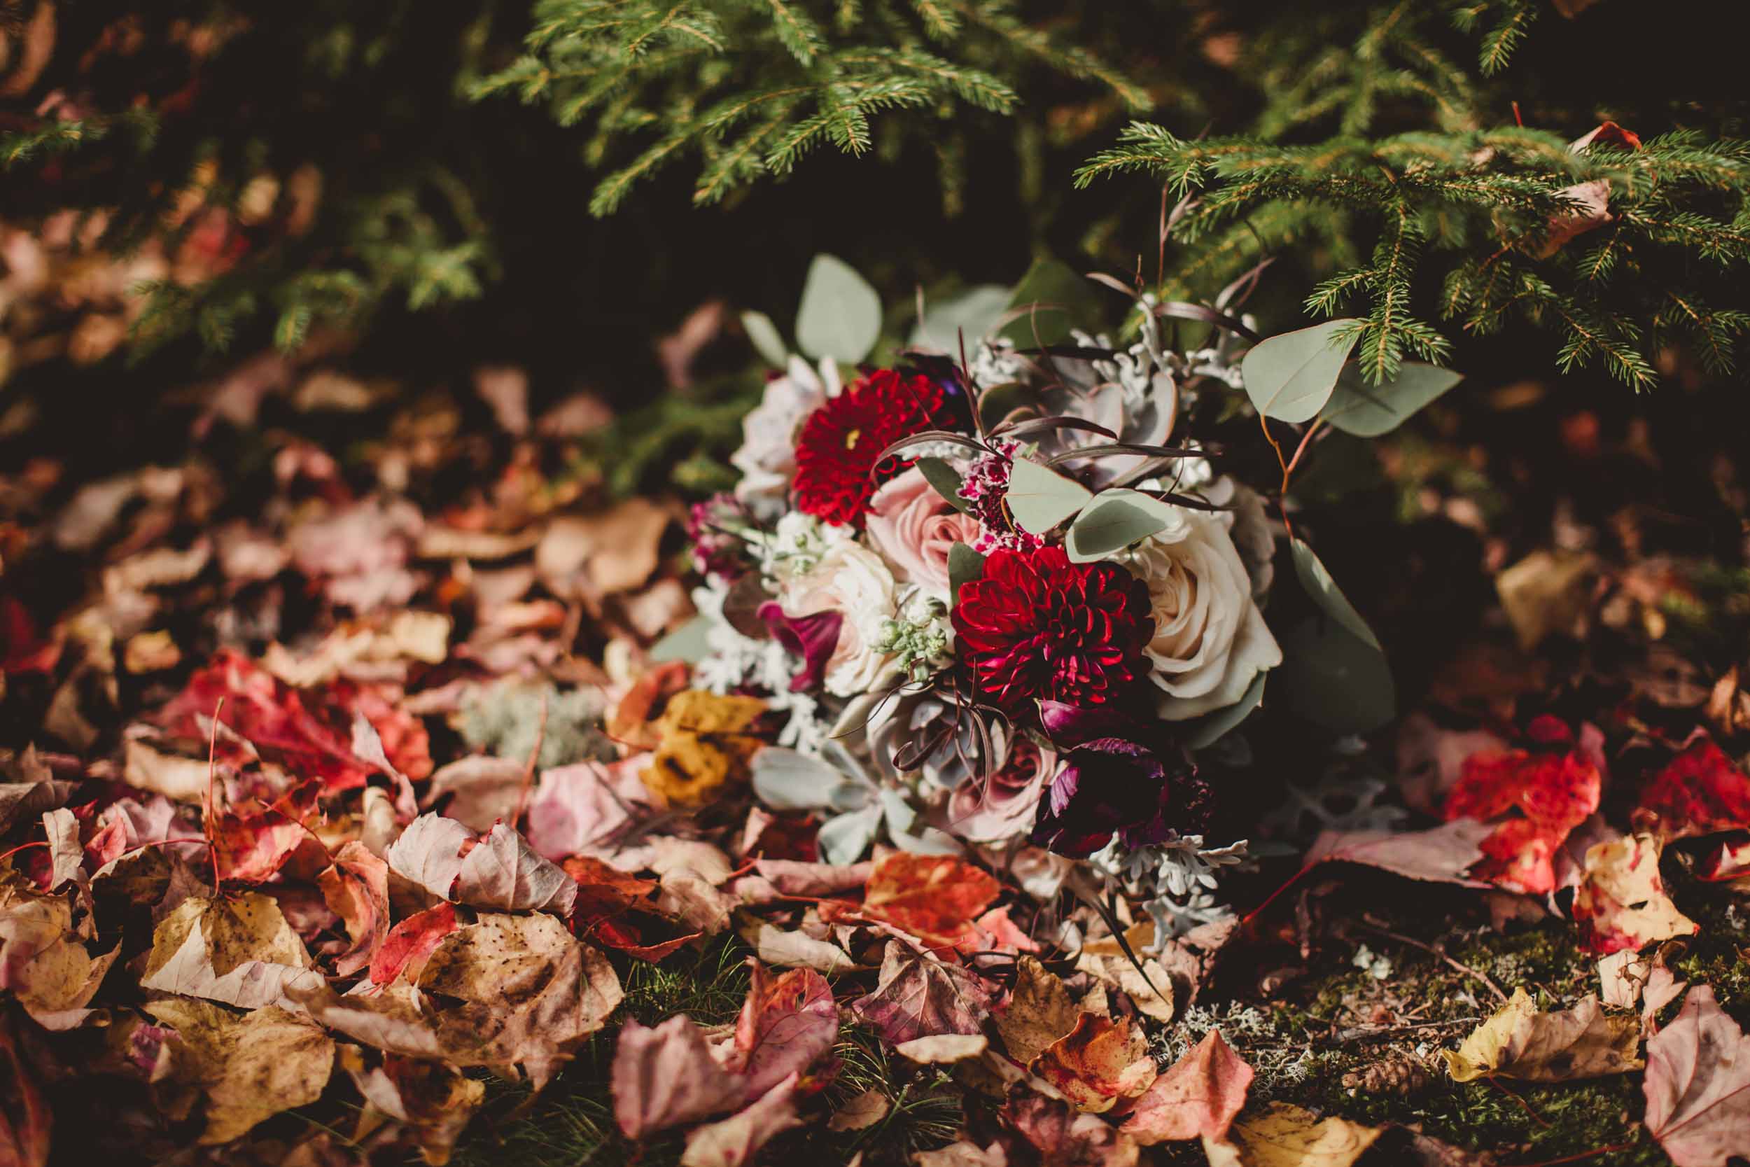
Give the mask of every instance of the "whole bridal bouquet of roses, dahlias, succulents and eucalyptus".
[{"label": "whole bridal bouquet of roses, dahlias, succulents and eucalyptus", "polygon": [[[1250,413],[1244,432],[1279,446],[1256,415],[1283,429],[1321,409],[1365,430],[1404,385],[1339,387],[1346,322],[1253,345],[1232,292],[1213,308],[1136,296],[1130,343],[1074,327],[1026,343],[1055,308],[1022,290],[978,332],[964,311],[947,338],[920,331],[891,366],[835,360],[835,343],[873,343],[838,318],[873,292],[821,306],[822,278],[856,280],[821,262],[798,338],[828,355],[786,355],[749,320],[784,367],[746,418],[733,493],[693,507],[695,684],[760,696],[779,723],[754,793],[822,814],[833,863],[877,840],[978,849],[1041,896],[1101,880],[1157,938],[1218,917],[1213,870],[1244,843],[1204,842],[1216,791],[1199,751],[1284,661],[1265,619],[1284,530],[1204,430]],[[1172,318],[1204,346],[1169,346]],[[1365,623],[1292,546],[1321,623],[1367,651]]]}]

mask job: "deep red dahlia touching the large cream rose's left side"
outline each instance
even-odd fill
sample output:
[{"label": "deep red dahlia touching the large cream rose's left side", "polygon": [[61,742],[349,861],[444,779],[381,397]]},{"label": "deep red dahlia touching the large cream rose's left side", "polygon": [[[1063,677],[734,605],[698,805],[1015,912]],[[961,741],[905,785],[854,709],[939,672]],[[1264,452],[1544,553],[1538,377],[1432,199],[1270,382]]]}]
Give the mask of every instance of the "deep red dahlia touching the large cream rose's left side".
[{"label": "deep red dahlia touching the large cream rose's left side", "polygon": [[1155,635],[1148,586],[1113,563],[1071,563],[1062,548],[996,551],[954,604],[959,658],[1010,716],[1036,700],[1104,705],[1146,674]]}]

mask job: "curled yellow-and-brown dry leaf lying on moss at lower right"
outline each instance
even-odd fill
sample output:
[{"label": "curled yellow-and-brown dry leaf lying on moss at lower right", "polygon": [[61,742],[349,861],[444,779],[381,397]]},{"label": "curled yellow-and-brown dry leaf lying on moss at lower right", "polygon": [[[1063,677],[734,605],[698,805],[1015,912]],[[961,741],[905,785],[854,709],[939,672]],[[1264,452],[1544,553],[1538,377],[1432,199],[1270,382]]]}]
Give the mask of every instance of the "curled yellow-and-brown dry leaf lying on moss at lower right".
[{"label": "curled yellow-and-brown dry leaf lying on moss at lower right", "polygon": [[1605,1013],[1598,997],[1538,1013],[1526,990],[1516,989],[1456,1052],[1442,1053],[1452,1081],[1573,1081],[1640,1069],[1638,1048],[1640,1020]]}]

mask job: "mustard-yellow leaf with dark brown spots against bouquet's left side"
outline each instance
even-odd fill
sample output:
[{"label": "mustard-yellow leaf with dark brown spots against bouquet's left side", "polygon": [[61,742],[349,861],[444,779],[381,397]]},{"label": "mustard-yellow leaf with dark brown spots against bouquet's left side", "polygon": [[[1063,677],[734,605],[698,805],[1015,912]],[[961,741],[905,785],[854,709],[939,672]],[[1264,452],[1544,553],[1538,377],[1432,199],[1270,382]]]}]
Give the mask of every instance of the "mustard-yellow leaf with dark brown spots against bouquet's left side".
[{"label": "mustard-yellow leaf with dark brown spots against bouquet's left side", "polygon": [[765,712],[752,696],[684,689],[656,719],[658,745],[640,775],[670,807],[702,807],[747,780],[747,759],[763,742],[749,733]]}]

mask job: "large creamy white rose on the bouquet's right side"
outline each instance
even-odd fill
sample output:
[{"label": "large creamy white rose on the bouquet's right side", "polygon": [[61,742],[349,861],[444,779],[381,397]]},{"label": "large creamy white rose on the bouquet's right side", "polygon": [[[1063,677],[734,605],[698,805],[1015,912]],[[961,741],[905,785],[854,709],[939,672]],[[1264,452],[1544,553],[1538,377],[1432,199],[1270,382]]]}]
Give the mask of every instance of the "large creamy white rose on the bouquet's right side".
[{"label": "large creamy white rose on the bouquet's right side", "polygon": [[1265,668],[1283,663],[1251,576],[1222,513],[1176,507],[1176,521],[1130,553],[1148,584],[1155,637],[1143,647],[1169,721],[1232,705]]}]

